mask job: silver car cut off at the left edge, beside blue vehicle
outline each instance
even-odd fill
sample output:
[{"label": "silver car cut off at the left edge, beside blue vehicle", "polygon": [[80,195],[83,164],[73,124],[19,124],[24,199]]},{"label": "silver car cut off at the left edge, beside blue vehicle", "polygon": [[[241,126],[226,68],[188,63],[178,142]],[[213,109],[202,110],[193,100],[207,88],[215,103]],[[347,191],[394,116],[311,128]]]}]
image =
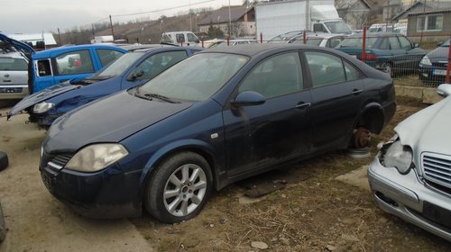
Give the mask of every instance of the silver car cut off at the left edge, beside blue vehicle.
[{"label": "silver car cut off at the left edge, beside blue vehicle", "polygon": [[28,60],[17,51],[0,49],[0,100],[22,99],[28,94]]}]

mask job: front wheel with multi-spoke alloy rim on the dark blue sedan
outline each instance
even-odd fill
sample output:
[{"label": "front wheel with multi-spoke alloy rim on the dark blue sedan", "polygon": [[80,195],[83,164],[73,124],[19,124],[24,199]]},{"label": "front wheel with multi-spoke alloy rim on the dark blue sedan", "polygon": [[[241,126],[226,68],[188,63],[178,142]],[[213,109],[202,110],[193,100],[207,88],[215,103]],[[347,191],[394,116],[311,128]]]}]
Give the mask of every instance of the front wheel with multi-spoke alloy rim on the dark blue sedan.
[{"label": "front wheel with multi-spoke alloy rim on the dark blue sedan", "polygon": [[144,207],[157,220],[178,223],[202,210],[213,188],[207,160],[193,152],[165,159],[146,185]]}]

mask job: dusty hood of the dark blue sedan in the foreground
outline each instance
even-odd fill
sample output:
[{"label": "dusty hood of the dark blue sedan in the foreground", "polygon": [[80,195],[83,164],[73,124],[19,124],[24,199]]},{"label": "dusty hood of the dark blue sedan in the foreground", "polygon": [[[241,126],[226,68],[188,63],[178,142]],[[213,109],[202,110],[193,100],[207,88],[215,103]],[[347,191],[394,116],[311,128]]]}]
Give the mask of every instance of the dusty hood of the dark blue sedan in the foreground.
[{"label": "dusty hood of the dark blue sedan in the foreground", "polygon": [[48,153],[75,152],[91,143],[120,142],[191,105],[149,101],[123,91],[60,116],[48,130],[43,146]]}]

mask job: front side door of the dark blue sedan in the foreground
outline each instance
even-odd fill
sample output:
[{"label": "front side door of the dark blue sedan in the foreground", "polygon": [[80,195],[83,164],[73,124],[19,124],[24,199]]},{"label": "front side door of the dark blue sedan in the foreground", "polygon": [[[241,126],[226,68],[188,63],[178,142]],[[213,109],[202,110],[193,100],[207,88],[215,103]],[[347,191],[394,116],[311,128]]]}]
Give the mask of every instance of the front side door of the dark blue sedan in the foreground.
[{"label": "front side door of the dark blue sedan in the foreground", "polygon": [[310,94],[303,87],[299,53],[263,59],[237,93],[253,91],[266,101],[223,112],[227,175],[239,175],[308,152]]}]

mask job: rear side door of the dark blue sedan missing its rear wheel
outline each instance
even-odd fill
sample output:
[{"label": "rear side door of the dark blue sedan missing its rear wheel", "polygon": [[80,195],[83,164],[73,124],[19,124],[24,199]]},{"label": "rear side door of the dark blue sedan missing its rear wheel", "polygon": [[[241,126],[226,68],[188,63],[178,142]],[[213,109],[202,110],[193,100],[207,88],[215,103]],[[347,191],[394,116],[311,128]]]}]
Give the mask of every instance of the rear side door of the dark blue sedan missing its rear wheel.
[{"label": "rear side door of the dark blue sedan missing its rear wheel", "polygon": [[311,86],[312,151],[346,144],[362,104],[363,76],[336,55],[319,51],[304,55]]}]

